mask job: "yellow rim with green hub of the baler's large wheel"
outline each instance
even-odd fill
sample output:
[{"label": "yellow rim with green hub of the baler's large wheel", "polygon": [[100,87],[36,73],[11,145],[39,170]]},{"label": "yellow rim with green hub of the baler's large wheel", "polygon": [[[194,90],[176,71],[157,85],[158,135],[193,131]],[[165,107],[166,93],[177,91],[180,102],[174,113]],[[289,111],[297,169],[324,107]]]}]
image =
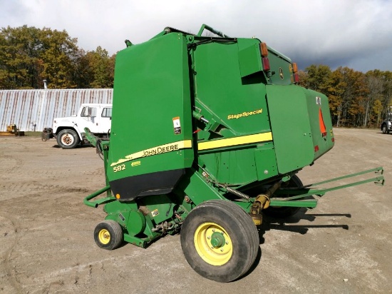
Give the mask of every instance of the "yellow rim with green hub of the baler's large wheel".
[{"label": "yellow rim with green hub of the baler's large wheel", "polygon": [[232,239],[227,231],[216,223],[199,225],[194,240],[197,253],[210,265],[224,265],[232,257]]}]

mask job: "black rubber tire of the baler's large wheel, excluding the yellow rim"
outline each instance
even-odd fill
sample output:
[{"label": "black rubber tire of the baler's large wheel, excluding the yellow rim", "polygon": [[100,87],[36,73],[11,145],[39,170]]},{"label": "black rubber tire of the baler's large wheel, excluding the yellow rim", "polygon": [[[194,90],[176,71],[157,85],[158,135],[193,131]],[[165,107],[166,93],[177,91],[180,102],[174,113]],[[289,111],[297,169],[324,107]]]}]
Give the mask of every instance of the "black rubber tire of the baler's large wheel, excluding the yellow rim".
[{"label": "black rubber tire of the baler's large wheel, excluding the yellow rim", "polygon": [[[232,241],[232,255],[222,265],[212,265],[197,253],[197,228],[214,223],[226,230]],[[259,250],[259,233],[252,218],[237,204],[212,200],[196,206],[181,228],[181,247],[187,262],[200,275],[217,282],[230,282],[241,277],[253,265]]]}]

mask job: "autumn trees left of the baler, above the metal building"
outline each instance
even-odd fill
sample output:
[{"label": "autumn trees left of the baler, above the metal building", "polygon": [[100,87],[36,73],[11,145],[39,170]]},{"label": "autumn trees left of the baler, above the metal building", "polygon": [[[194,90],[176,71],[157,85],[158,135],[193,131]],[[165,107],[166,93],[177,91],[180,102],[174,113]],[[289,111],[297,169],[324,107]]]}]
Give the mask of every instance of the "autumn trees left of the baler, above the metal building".
[{"label": "autumn trees left of the baler, above the metal building", "polygon": [[0,88],[113,88],[113,56],[78,48],[64,31],[21,26],[0,31]]}]

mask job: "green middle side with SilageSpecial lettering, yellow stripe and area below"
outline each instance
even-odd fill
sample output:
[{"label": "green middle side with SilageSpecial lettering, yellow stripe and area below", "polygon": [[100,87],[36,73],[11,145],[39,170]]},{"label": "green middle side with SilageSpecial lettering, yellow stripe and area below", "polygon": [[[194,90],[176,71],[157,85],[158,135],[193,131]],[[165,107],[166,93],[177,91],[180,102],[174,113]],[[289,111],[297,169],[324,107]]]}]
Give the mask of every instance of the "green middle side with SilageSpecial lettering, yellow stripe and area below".
[{"label": "green middle side with SilageSpecial lettering, yellow stripe and area below", "polygon": [[[270,137],[264,74],[242,77],[257,70],[259,41],[238,39],[237,43],[209,43],[193,53],[195,106],[208,120],[220,123],[215,132],[199,131],[198,156],[206,171],[220,183],[244,185],[258,181],[254,150]],[[258,53],[257,53],[258,52]],[[247,56],[249,54],[249,62]],[[245,64],[245,65],[244,65]],[[245,70],[246,68],[246,70]],[[274,163],[276,165],[276,163]],[[265,167],[273,169],[271,167]]]}]

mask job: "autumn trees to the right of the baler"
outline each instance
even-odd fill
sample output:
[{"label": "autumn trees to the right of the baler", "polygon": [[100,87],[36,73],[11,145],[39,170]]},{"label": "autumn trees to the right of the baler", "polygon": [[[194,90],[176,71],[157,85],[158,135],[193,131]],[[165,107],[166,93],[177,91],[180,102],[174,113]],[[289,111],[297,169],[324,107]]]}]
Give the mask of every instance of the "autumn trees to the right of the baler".
[{"label": "autumn trees to the right of the baler", "polygon": [[331,71],[326,65],[311,65],[299,76],[301,86],[328,96],[334,126],[378,128],[392,106],[391,71],[363,74],[348,67]]}]

